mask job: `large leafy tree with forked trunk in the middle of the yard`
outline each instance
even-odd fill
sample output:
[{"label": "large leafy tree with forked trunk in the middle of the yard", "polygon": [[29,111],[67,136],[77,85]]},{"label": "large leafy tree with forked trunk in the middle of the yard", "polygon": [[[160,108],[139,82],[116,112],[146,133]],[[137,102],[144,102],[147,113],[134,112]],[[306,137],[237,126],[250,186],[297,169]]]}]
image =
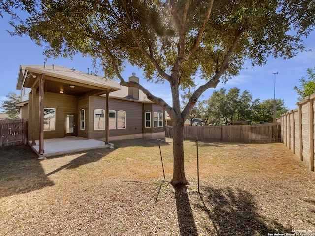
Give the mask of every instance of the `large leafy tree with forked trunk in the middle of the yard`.
[{"label": "large leafy tree with forked trunk in the middle of the yard", "polygon": [[[11,2],[19,7],[20,1]],[[268,56],[293,57],[315,24],[314,0],[22,2],[32,16],[15,18],[13,34],[47,43],[47,55],[81,52],[100,59],[107,77],[117,76],[121,85],[142,90],[165,108],[174,128],[173,185],[187,183],[183,127],[201,94],[238,74],[245,59],[262,65]],[[126,63],[141,68],[149,81],[169,83],[172,104],[127,82],[121,74]],[[197,88],[196,77],[204,79]],[[181,110],[179,91],[185,88],[194,92]]]}]

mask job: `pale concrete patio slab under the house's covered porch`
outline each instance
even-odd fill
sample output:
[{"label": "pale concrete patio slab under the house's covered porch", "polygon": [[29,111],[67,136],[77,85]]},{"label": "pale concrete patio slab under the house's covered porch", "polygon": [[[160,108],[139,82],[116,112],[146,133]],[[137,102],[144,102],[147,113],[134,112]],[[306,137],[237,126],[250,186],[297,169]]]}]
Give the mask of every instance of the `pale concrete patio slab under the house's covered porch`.
[{"label": "pale concrete patio slab under the house's covered porch", "polygon": [[110,148],[111,146],[113,146],[105,144],[105,142],[101,140],[85,139],[82,137],[44,139],[44,154],[40,155],[38,153],[39,140],[36,140],[36,145],[32,145],[32,141],[29,141],[29,145],[39,157],[57,156],[97,148]]}]

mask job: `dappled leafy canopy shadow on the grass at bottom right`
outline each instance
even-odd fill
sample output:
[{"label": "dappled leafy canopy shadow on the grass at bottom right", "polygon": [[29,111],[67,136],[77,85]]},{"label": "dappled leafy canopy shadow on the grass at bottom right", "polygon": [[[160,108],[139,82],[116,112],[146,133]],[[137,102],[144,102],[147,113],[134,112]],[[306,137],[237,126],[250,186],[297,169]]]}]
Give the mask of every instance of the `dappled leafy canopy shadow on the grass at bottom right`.
[{"label": "dappled leafy canopy shadow on the grass at bottom right", "polygon": [[271,233],[291,233],[275,220],[267,219],[258,213],[254,196],[242,189],[215,189],[207,187],[204,196],[200,194],[202,204],[196,207],[206,212],[213,228],[204,226],[210,235],[252,236]]}]

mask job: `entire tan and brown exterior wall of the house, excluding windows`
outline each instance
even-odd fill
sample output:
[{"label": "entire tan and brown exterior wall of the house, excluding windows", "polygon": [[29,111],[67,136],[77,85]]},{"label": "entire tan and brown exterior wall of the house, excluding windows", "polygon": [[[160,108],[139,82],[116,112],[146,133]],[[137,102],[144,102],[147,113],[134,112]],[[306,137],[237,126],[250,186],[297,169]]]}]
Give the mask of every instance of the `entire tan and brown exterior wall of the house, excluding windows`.
[{"label": "entire tan and brown exterior wall of the house, excluding windows", "polygon": [[[32,93],[29,94],[29,104],[32,104]],[[36,92],[35,105],[35,123],[34,129],[35,139],[39,139],[39,92]],[[105,130],[94,129],[95,109],[103,109],[106,111],[106,97],[100,96],[83,96],[76,97],[57,93],[45,93],[44,107],[56,109],[55,130],[44,131],[44,138],[62,138],[65,137],[65,118],[66,114],[76,115],[76,133],[77,136],[84,138],[104,138]],[[29,118],[29,137],[32,137],[32,105],[27,108],[26,115]],[[85,109],[85,129],[80,129],[80,111]],[[126,128],[109,130],[110,140],[126,139],[126,138],[165,138],[165,111],[162,107],[153,103],[141,103],[120,100],[115,98],[109,99],[109,110],[126,112]],[[145,111],[151,113],[151,127],[144,128]],[[163,113],[163,127],[153,127],[153,112]]]}]

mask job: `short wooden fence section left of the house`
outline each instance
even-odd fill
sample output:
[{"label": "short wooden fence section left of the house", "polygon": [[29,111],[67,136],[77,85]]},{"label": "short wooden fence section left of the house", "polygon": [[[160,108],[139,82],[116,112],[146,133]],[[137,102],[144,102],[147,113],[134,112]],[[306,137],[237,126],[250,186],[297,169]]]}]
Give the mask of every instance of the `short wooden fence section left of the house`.
[{"label": "short wooden fence section left of the house", "polygon": [[26,144],[27,121],[5,120],[0,121],[0,148]]}]

